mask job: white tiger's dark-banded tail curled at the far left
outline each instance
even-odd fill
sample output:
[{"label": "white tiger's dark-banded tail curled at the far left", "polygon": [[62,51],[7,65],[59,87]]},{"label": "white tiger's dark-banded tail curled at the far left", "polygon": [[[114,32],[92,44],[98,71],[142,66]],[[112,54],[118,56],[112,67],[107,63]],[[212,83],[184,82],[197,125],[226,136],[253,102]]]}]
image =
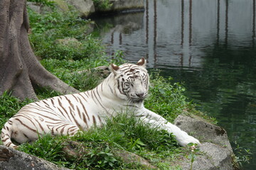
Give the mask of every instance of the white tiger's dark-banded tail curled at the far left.
[{"label": "white tiger's dark-banded tail curled at the far left", "polygon": [[12,147],[16,149],[18,146],[14,145],[13,142],[11,142],[11,133],[12,133],[12,122],[11,120],[8,120],[4,124],[4,128],[1,130],[1,141],[4,143],[6,147]]}]

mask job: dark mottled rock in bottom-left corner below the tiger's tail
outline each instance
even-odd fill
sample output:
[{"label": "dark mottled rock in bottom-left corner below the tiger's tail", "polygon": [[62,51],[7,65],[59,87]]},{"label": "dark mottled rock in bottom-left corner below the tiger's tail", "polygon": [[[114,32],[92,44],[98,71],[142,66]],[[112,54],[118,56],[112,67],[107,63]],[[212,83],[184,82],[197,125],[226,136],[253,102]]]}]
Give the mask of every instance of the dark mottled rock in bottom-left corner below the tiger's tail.
[{"label": "dark mottled rock in bottom-left corner below the tiger's tail", "polygon": [[68,170],[44,159],[0,145],[0,170]]}]

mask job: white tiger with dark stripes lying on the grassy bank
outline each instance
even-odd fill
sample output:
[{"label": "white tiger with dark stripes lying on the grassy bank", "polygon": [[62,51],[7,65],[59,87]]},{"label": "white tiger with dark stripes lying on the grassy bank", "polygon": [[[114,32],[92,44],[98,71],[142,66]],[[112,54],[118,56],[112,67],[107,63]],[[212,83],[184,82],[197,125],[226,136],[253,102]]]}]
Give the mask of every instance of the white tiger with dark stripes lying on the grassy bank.
[{"label": "white tiger with dark stripes lying on the grassy bank", "polygon": [[111,64],[112,73],[95,89],[29,103],[5,123],[1,141],[16,148],[11,139],[23,143],[38,139],[38,134],[75,135],[79,130],[102,125],[107,116],[129,109],[144,123],[173,133],[181,146],[190,142],[200,144],[176,125],[144,108],[149,90],[145,66],[144,58],[137,64]]}]

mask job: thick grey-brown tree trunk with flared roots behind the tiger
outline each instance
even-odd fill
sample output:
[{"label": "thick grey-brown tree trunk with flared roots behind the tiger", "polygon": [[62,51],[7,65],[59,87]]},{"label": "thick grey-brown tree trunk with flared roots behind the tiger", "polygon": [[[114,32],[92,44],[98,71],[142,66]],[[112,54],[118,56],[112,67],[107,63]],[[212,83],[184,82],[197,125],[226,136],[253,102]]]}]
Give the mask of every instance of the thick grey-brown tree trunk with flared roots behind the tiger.
[{"label": "thick grey-brown tree trunk with flared roots behind the tiger", "polygon": [[37,99],[33,85],[49,87],[62,94],[78,92],[50,74],[36,59],[28,41],[26,0],[0,1],[0,96]]}]

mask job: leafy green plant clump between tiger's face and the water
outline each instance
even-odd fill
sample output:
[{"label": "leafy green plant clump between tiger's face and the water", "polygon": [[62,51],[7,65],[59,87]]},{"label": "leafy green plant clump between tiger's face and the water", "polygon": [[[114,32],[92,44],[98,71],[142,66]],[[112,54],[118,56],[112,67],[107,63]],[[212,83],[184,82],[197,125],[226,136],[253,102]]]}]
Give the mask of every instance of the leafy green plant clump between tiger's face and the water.
[{"label": "leafy green plant clump between tiger's face and the water", "polygon": [[145,106],[167,120],[173,121],[179,114],[193,106],[183,94],[186,89],[178,83],[170,84],[170,81],[171,78],[165,79],[159,76],[158,71],[151,72],[151,86]]}]

